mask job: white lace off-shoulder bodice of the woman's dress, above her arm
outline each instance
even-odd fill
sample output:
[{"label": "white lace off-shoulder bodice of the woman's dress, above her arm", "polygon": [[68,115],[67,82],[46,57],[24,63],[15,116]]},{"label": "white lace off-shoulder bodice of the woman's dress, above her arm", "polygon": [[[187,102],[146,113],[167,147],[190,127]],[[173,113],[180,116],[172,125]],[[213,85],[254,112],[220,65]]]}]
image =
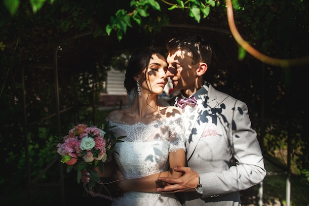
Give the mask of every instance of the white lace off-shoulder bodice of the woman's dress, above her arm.
[{"label": "white lace off-shoulder bodice of the woman's dress, above her arm", "polygon": [[115,136],[126,136],[116,143],[116,163],[126,178],[143,177],[168,169],[169,152],[185,150],[181,115],[155,120],[149,124],[110,121]]}]

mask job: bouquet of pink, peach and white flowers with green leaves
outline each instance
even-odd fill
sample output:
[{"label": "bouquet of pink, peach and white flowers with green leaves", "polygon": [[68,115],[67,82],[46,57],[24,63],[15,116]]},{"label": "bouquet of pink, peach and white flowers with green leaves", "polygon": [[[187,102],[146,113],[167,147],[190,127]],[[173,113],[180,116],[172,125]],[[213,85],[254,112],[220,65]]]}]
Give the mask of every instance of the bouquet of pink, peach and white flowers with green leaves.
[{"label": "bouquet of pink, peach and white flowers with green leaves", "polygon": [[[113,126],[114,127],[114,126]],[[77,183],[80,182],[81,170],[88,170],[90,173],[89,188],[93,188],[100,177],[95,167],[104,172],[104,163],[110,158],[116,142],[124,137],[116,138],[112,127],[101,128],[78,124],[69,130],[69,133],[61,138],[56,146],[57,153],[61,155],[61,162],[68,165],[67,172],[77,170]]]}]

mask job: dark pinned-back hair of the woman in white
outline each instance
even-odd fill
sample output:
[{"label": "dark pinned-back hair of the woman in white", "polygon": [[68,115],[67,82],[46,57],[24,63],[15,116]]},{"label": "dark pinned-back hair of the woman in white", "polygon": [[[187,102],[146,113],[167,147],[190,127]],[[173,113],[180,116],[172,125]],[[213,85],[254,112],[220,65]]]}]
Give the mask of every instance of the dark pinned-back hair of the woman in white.
[{"label": "dark pinned-back hair of the woman in white", "polygon": [[[148,67],[150,58],[155,53],[165,57],[165,53],[163,53],[163,51],[154,48],[139,49],[132,54],[124,79],[124,87],[126,88],[127,93],[130,93],[133,88],[137,89],[134,77],[142,73],[143,70]],[[145,77],[146,74],[147,72],[145,73]]]}]

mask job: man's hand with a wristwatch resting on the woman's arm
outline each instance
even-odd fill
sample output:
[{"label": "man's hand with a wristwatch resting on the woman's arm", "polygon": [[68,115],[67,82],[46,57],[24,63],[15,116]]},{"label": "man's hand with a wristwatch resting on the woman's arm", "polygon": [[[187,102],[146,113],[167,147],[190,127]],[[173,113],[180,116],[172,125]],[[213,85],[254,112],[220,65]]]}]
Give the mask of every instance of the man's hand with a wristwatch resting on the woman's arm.
[{"label": "man's hand with a wristwatch resting on the woman's arm", "polygon": [[183,172],[183,176],[178,178],[160,177],[158,181],[166,182],[170,185],[158,187],[158,192],[193,192],[198,184],[198,173],[190,167],[175,166],[175,171]]}]

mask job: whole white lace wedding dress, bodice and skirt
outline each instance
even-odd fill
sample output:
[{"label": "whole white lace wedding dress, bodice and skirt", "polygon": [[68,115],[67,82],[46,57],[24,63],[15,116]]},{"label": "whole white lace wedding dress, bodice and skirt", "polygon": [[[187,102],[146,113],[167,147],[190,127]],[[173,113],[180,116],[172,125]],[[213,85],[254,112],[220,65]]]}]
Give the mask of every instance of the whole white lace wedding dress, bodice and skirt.
[{"label": "whole white lace wedding dress, bodice and skirt", "polygon": [[[116,164],[125,178],[138,178],[168,169],[168,153],[185,150],[184,124],[181,115],[149,124],[110,122],[115,136],[126,136],[116,143]],[[173,193],[129,191],[117,197],[111,206],[181,206]]]}]

